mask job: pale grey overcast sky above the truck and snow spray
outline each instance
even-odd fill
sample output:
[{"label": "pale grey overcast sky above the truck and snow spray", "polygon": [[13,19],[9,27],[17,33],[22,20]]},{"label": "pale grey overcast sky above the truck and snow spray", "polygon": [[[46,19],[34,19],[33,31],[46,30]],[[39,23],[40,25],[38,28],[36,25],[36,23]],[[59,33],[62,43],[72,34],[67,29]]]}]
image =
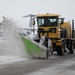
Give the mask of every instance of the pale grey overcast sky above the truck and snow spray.
[{"label": "pale grey overcast sky above the truck and snow spray", "polygon": [[55,13],[68,20],[75,20],[75,0],[0,0],[0,21],[2,17],[13,18],[21,27],[27,27],[28,14]]}]

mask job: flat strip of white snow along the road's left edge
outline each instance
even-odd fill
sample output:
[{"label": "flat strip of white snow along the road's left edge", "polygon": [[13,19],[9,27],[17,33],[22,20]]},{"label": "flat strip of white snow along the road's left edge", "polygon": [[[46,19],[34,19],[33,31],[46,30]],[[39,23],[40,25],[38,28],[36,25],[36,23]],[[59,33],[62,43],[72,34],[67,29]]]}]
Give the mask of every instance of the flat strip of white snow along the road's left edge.
[{"label": "flat strip of white snow along the road's left edge", "polygon": [[22,58],[22,57],[12,56],[12,55],[4,55],[4,56],[0,56],[0,65],[9,64],[17,61],[25,61],[25,60],[27,61],[28,58]]}]

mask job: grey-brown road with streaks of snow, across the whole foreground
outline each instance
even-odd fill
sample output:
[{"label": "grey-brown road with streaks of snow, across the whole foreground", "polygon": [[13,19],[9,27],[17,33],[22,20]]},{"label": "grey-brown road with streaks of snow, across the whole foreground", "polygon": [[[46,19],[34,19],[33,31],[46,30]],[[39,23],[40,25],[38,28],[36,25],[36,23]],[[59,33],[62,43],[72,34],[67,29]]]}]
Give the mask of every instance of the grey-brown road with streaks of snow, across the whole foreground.
[{"label": "grey-brown road with streaks of snow, across the whole foreground", "polygon": [[75,54],[0,65],[0,75],[75,75]]}]

